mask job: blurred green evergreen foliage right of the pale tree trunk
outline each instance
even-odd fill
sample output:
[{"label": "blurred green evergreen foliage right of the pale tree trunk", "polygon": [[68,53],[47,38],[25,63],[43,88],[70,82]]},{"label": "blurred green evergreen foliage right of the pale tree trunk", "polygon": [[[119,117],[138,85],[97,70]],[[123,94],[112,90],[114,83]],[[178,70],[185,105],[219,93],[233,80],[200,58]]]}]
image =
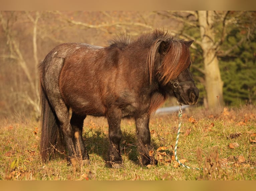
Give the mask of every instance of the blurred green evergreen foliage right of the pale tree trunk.
[{"label": "blurred green evergreen foliage right of the pale tree trunk", "polygon": [[[244,30],[234,29],[227,37],[226,46],[236,46]],[[224,82],[224,100],[229,105],[256,103],[256,32],[248,34],[247,40],[220,59]]]}]

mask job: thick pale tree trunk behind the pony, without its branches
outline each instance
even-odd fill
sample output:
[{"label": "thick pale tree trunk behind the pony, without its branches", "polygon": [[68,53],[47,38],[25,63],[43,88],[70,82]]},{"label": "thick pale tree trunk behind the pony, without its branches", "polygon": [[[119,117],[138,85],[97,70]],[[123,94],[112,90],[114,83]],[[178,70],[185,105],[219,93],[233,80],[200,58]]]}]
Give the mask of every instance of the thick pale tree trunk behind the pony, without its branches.
[{"label": "thick pale tree trunk behind the pony, without its branches", "polygon": [[214,17],[212,11],[199,11],[199,24],[204,54],[205,85],[210,109],[223,105],[223,82],[221,80],[219,61],[214,48]]}]

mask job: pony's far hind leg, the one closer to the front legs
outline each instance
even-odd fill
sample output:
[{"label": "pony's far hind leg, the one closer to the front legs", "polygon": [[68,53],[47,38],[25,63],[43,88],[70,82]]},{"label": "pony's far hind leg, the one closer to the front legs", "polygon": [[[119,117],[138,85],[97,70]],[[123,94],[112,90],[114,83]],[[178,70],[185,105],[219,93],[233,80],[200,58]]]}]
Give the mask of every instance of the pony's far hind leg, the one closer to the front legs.
[{"label": "pony's far hind leg, the one closer to the front legs", "polygon": [[85,143],[83,140],[83,124],[84,124],[84,119],[86,118],[86,115],[79,115],[76,114],[75,112],[72,112],[70,124],[73,128],[73,131],[75,133],[74,137],[74,143],[76,143],[76,154],[80,157],[82,157],[82,160],[84,162],[88,162],[89,160],[89,155],[87,153],[87,150],[85,148]]}]

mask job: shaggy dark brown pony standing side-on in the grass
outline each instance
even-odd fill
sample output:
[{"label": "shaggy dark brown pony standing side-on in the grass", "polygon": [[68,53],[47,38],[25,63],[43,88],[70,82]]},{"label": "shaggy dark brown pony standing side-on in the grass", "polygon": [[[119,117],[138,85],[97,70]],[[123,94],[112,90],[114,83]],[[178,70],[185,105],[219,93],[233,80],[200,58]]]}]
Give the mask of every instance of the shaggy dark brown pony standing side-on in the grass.
[{"label": "shaggy dark brown pony standing side-on in the grass", "polygon": [[[57,141],[65,143],[70,157],[81,153],[83,160],[89,159],[82,130],[86,115],[93,115],[108,120],[110,166],[122,164],[119,144],[124,117],[135,119],[142,165],[154,163],[149,156],[150,114],[168,96],[183,104],[195,104],[199,97],[189,72],[192,42],[155,30],[131,42],[113,40],[108,47],[82,43],[55,47],[39,65],[43,161]],[[76,152],[78,143],[81,152]]]}]

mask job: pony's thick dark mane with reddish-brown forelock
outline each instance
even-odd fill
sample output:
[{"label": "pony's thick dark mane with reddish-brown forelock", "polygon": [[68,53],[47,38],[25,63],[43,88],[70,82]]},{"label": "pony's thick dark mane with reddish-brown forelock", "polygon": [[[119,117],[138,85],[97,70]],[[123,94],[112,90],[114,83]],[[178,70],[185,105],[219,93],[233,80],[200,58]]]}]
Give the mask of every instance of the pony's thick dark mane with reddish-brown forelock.
[{"label": "pony's thick dark mane with reddish-brown forelock", "polygon": [[[161,67],[156,70],[155,58],[163,41],[166,44],[166,51],[164,52]],[[160,73],[161,77],[159,80],[163,85],[166,85],[170,80],[177,78],[189,66],[190,54],[185,41],[174,40],[164,30],[155,29],[152,33],[144,33],[135,40],[130,40],[127,35],[122,35],[109,41],[109,44],[109,47],[119,49],[149,48],[145,70],[148,71],[150,83],[154,76]]]}]

